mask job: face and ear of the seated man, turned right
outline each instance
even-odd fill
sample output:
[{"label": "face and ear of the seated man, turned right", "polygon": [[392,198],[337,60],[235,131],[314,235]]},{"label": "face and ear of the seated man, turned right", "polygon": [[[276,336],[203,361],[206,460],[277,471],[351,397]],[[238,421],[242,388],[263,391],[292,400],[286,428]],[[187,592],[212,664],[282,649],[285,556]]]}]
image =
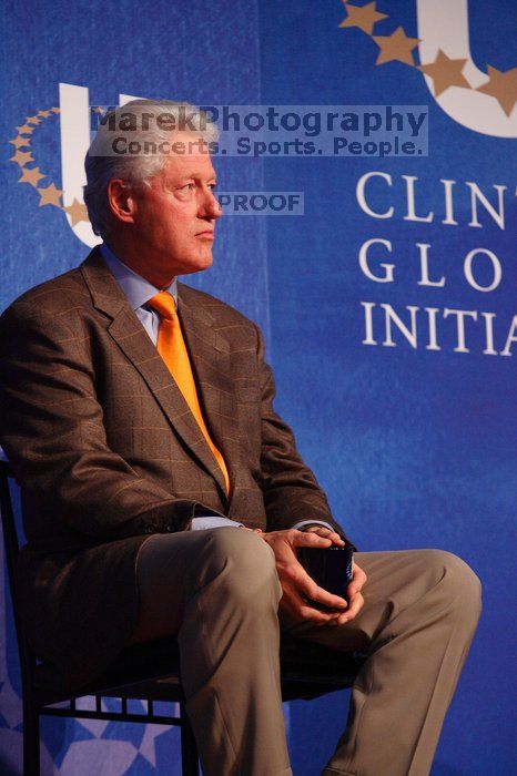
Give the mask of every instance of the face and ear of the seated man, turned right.
[{"label": "face and ear of the seated man, turned right", "polygon": [[[131,237],[138,246],[133,268],[162,287],[175,275],[206,269],[212,264],[215,221],[215,171],[195,135],[178,132],[173,142],[189,143],[192,153],[170,154],[150,186],[132,188],[134,218]],[[206,146],[204,146],[206,149]]]}]

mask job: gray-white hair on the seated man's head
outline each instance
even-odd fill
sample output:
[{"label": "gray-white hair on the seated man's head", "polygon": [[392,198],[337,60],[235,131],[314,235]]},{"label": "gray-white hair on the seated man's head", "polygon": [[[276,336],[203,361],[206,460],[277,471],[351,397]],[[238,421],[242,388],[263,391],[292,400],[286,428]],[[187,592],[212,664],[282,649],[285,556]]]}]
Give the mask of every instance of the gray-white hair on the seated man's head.
[{"label": "gray-white hair on the seated man's head", "polygon": [[[109,182],[149,185],[166,164],[174,131],[197,135],[209,149],[219,136],[207,114],[187,102],[132,100],[102,116],[84,160],[84,204],[95,234],[105,238],[113,223]],[[133,143],[135,151],[128,153]]]}]

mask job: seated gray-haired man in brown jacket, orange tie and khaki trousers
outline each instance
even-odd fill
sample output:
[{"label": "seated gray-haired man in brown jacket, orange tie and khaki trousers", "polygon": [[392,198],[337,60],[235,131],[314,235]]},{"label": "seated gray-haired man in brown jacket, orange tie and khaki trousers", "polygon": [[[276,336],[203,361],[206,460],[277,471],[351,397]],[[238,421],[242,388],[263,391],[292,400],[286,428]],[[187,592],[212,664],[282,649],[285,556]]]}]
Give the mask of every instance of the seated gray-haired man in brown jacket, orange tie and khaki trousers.
[{"label": "seated gray-haired man in brown jacket, orange tie and khaki trousers", "polygon": [[[171,132],[141,119],[178,110],[133,101],[123,112],[139,142],[170,149]],[[348,605],[305,573],[297,548],[349,540],[273,409],[261,333],[176,282],[212,263],[215,127],[179,129],[172,153],[128,157],[110,154],[120,113],[85,161],[103,244],[0,324],[0,441],[23,490],[32,647],[79,686],[125,645],[178,634],[206,776],[291,773],[281,631],[361,649],[323,773],[424,776],[479,582],[440,550],[356,552]]]}]

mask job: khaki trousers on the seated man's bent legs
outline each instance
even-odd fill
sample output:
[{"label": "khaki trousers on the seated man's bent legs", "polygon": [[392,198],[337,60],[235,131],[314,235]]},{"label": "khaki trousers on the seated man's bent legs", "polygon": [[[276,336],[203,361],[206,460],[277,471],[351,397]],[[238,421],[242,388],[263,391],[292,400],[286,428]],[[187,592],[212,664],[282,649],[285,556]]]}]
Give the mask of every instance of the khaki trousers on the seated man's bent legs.
[{"label": "khaki trousers on the seated man's bent legs", "polygon": [[325,776],[429,773],[480,614],[479,580],[442,550],[357,552],[355,559],[368,575],[363,610],[342,626],[314,626],[278,619],[274,554],[252,531],[154,534],[142,545],[132,641],[178,634],[186,709],[205,776],[292,773],[280,690],[281,629],[369,655]]}]

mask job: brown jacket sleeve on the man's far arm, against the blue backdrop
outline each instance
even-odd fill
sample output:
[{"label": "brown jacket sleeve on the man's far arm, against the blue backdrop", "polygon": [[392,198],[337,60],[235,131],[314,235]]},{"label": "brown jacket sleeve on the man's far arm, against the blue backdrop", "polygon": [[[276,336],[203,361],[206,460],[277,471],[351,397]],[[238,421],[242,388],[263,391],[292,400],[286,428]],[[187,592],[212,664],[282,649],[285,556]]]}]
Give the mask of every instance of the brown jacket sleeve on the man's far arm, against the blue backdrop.
[{"label": "brown jacket sleeve on the man's far arm, against the blue backdrop", "polygon": [[273,409],[273,372],[264,361],[264,340],[258,328],[256,333],[262,391],[261,473],[268,530],[293,528],[306,520],[324,521],[352,544],[341,525],[333,519],[316,478],[303,462],[292,430]]}]

